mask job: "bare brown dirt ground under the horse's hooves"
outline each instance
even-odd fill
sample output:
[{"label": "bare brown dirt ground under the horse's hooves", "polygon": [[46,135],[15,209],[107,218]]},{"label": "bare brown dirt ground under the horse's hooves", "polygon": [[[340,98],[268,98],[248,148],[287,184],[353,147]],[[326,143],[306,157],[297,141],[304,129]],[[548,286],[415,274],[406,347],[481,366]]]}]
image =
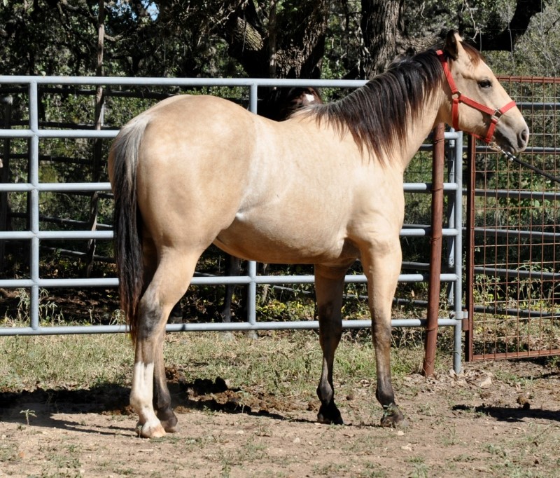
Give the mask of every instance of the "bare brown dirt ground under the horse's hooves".
[{"label": "bare brown dirt ground under the horse's hooves", "polygon": [[560,476],[557,365],[405,376],[402,430],[377,425],[367,381],[338,397],[345,425],[329,426],[316,423],[317,402],[231,390],[221,378],[186,383],[174,369],[168,378],[181,431],[161,439],[137,437],[122,387],[0,393],[0,476]]}]

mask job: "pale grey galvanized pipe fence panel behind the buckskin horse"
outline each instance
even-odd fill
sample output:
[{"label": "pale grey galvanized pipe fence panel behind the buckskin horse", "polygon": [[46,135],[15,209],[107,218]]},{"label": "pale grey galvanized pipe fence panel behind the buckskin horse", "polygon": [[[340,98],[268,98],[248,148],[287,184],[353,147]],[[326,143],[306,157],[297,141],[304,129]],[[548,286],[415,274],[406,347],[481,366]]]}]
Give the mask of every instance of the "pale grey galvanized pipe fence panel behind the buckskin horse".
[{"label": "pale grey galvanized pipe fence panel behind the buckskin horse", "polygon": [[[46,86],[228,86],[244,87],[248,89],[248,109],[257,110],[257,92],[259,87],[269,86],[314,86],[318,88],[356,88],[362,86],[364,81],[331,81],[331,80],[269,80],[246,78],[103,78],[103,77],[35,77],[35,76],[0,76],[0,85],[26,85],[29,95],[29,125],[27,128],[0,129],[0,138],[24,138],[29,140],[29,182],[0,184],[0,193],[19,192],[29,193],[29,230],[26,231],[0,231],[2,240],[29,240],[30,241],[30,273],[29,278],[0,278],[0,288],[26,288],[30,290],[30,323],[29,327],[0,327],[0,335],[37,335],[37,334],[90,334],[125,332],[126,328],[119,325],[92,325],[92,326],[67,326],[44,327],[39,320],[39,291],[42,288],[52,287],[116,287],[116,278],[73,278],[51,279],[41,278],[39,264],[41,261],[40,243],[42,240],[80,240],[80,239],[111,239],[110,230],[101,231],[43,231],[40,227],[39,193],[43,192],[110,192],[107,182],[80,182],[80,183],[52,183],[39,180],[39,151],[41,141],[50,138],[106,138],[111,139],[118,133],[117,130],[92,130],[92,129],[46,129],[41,128],[38,121],[39,94],[38,89]],[[462,135],[461,132],[446,132],[445,138],[453,151],[451,154],[451,170],[448,182],[444,183],[444,193],[448,198],[448,214],[444,224],[443,235],[449,240],[450,255],[447,257],[447,272],[440,278],[443,282],[451,282],[451,308],[450,318],[440,318],[441,326],[455,327],[455,352],[454,366],[458,371],[461,368],[461,297],[462,294],[462,260],[461,260],[461,226],[462,221]],[[429,148],[428,145],[423,149]],[[430,184],[407,183],[405,192],[430,191]],[[104,228],[106,229],[106,228]],[[405,226],[402,236],[422,237],[429,235],[429,226]],[[400,275],[401,282],[426,282],[427,273],[414,273]],[[195,331],[195,330],[258,330],[258,329],[315,329],[316,321],[304,322],[258,322],[256,320],[256,286],[259,284],[296,284],[314,282],[312,275],[257,275],[256,264],[250,262],[247,275],[235,277],[195,277],[193,285],[223,285],[235,283],[248,286],[248,312],[246,322],[241,323],[197,323],[197,324],[169,324],[167,330]],[[365,282],[364,275],[347,275],[346,282]],[[455,318],[456,317],[456,318]],[[344,320],[346,328],[370,327],[370,320]],[[393,327],[420,327],[425,319],[411,318],[393,320]]]}]

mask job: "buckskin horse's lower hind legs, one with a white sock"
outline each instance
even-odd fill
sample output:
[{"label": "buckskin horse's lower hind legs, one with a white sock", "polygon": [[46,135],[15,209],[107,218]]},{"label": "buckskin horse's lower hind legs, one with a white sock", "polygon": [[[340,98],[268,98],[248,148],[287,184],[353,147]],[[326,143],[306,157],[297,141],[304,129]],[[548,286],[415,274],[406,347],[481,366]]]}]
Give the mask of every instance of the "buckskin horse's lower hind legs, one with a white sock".
[{"label": "buckskin horse's lower hind legs, one with a white sock", "polygon": [[163,340],[169,312],[193,278],[199,256],[199,251],[163,250],[160,264],[139,303],[130,404],[139,415],[143,437],[161,437],[166,431],[176,430],[177,419],[165,380]]}]

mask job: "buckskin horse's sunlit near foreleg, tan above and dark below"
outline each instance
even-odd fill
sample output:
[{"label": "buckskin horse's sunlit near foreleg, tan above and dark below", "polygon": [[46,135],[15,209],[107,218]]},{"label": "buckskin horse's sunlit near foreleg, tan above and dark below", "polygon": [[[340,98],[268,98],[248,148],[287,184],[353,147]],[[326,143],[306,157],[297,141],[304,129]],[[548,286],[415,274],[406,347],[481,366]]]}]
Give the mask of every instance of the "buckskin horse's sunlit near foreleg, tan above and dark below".
[{"label": "buckskin horse's sunlit near foreleg, tan above and dark below", "polygon": [[379,247],[373,254],[362,254],[377,366],[375,396],[384,409],[381,426],[385,427],[405,424],[405,417],[395,404],[391,381],[391,308],[401,262],[398,240]]}]

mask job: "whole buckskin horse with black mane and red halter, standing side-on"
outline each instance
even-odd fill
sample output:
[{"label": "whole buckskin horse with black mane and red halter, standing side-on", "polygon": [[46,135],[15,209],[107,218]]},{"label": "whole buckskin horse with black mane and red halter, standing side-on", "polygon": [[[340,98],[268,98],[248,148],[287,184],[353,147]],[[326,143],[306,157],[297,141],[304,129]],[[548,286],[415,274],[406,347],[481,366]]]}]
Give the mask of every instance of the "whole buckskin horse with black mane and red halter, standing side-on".
[{"label": "whole buckskin horse with black mane and red halter, standing side-on", "polygon": [[389,354],[403,174],[441,122],[509,153],[528,142],[515,103],[480,53],[454,32],[440,50],[398,60],[342,100],[302,109],[287,121],[217,97],[180,95],[123,127],[109,153],[109,177],[121,307],[135,348],[130,403],[142,437],[178,430],[165,380],[165,324],[212,243],[244,259],[314,265],[320,423],[343,423],[333,362],[344,275],[359,258],[380,425],[406,423],[395,403]]}]

